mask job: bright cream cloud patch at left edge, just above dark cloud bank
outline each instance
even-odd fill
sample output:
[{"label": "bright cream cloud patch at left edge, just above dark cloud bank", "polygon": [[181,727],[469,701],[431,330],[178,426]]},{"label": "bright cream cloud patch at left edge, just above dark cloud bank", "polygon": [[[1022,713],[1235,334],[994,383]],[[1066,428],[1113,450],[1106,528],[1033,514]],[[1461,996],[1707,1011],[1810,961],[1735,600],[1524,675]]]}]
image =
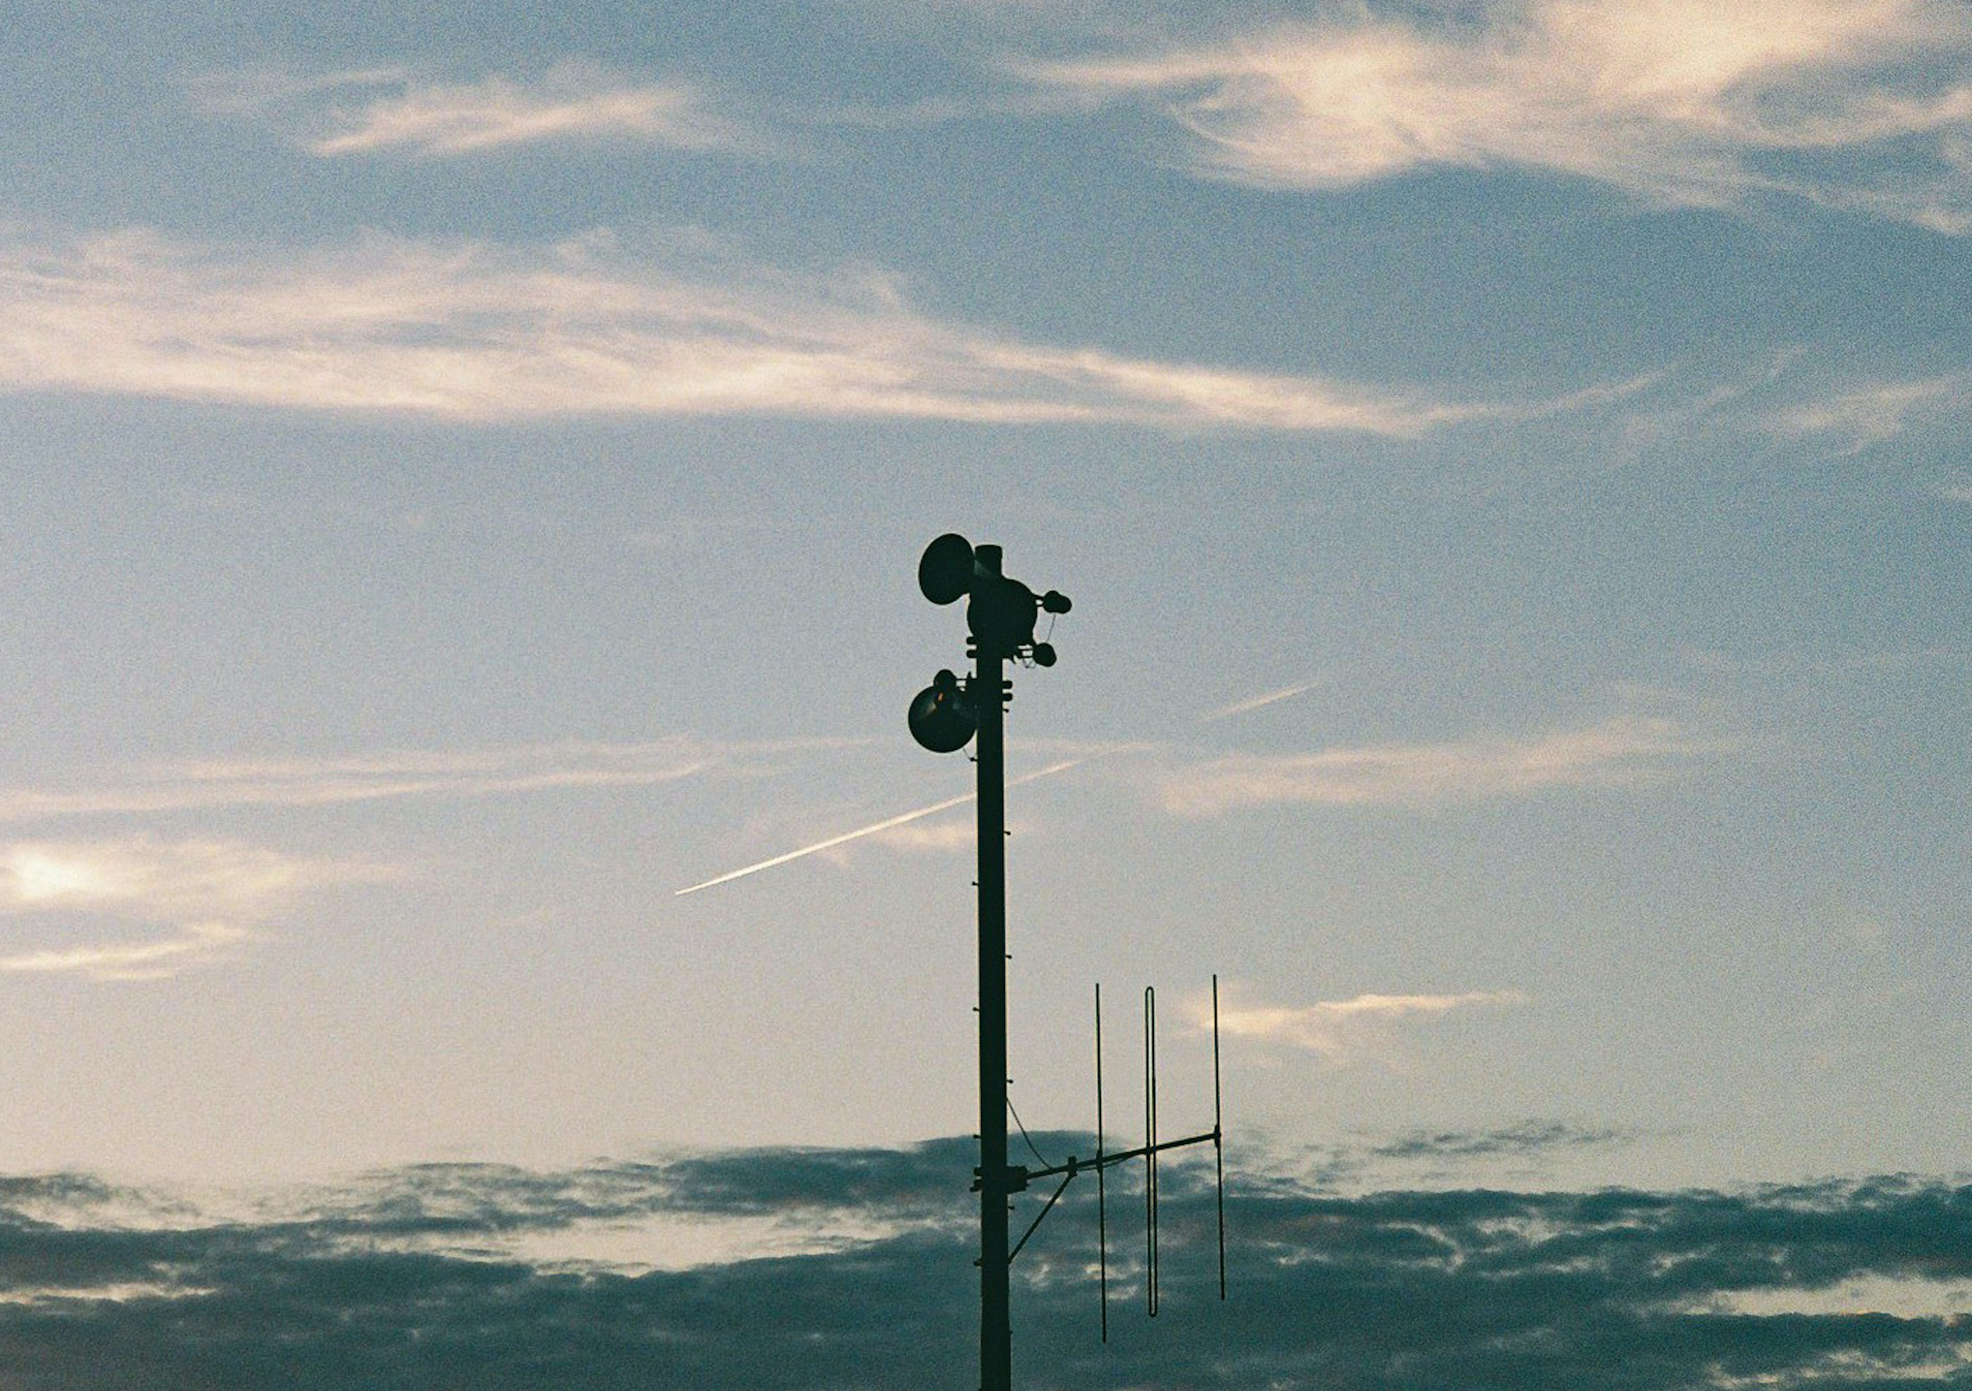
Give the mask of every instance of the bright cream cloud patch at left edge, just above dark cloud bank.
[{"label": "bright cream cloud patch at left edge, just above dark cloud bank", "polygon": [[0,915],[43,931],[77,915],[91,929],[110,917],[146,931],[14,951],[0,955],[0,973],[158,981],[237,957],[262,935],[245,919],[331,884],[388,876],[383,864],[306,860],[237,841],[16,841],[0,846]]}]

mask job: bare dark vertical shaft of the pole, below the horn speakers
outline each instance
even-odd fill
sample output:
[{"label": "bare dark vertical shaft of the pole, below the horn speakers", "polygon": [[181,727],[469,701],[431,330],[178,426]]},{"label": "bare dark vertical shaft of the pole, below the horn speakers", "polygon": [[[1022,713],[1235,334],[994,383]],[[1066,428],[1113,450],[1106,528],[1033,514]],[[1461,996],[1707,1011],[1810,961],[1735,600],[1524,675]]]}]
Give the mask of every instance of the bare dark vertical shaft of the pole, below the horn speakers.
[{"label": "bare dark vertical shaft of the pole, below the horn speakers", "polygon": [[1006,742],[1002,657],[978,647],[980,1391],[1012,1391],[1006,1164]]}]

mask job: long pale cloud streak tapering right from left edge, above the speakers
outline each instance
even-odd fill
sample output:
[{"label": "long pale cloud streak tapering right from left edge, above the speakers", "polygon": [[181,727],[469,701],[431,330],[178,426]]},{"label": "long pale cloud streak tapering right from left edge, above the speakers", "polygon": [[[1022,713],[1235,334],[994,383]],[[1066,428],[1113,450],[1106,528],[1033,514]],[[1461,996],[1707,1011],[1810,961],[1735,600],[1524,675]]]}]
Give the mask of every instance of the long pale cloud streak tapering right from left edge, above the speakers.
[{"label": "long pale cloud streak tapering right from left edge, above the speakers", "polygon": [[765,412],[1380,436],[1522,410],[1020,343],[929,320],[868,274],[676,278],[609,235],[316,253],[16,237],[0,245],[0,391],[465,422]]}]

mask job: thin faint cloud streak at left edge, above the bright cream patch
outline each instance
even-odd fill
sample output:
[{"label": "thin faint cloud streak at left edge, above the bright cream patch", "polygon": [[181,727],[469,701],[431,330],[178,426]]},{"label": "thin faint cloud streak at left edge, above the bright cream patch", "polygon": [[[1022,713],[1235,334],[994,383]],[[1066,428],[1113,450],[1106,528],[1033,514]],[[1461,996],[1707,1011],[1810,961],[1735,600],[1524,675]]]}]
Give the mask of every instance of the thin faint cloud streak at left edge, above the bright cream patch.
[{"label": "thin faint cloud streak at left edge, above the bright cream patch", "polygon": [[787,748],[795,746],[718,748],[690,738],[667,738],[641,744],[396,750],[353,758],[164,762],[105,771],[65,787],[0,787],[0,821],[201,807],[323,807],[387,797],[491,797],[554,787],[649,787]]}]

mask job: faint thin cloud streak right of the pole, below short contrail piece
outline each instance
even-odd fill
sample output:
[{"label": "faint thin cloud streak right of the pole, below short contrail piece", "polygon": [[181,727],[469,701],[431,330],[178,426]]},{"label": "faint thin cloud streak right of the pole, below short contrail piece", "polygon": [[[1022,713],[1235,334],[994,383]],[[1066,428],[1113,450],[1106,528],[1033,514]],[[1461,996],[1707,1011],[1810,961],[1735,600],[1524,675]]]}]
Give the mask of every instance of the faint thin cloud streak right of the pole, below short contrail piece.
[{"label": "faint thin cloud streak right of the pole, below short contrail piece", "polygon": [[1532,738],[1371,744],[1317,754],[1231,754],[1160,779],[1165,811],[1207,817],[1278,803],[1438,807],[1550,787],[1635,787],[1718,752],[1674,720],[1617,716]]}]

